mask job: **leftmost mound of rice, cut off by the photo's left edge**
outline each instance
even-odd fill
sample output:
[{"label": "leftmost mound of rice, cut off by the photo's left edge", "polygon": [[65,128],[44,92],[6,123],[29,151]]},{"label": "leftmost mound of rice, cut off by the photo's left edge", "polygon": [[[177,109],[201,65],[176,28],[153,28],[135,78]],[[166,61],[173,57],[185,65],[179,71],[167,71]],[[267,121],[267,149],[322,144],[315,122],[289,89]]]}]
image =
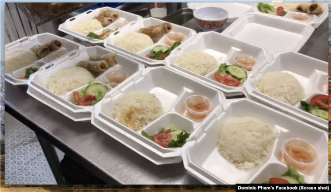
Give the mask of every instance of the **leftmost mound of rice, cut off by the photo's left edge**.
[{"label": "leftmost mound of rice, cut off by the photo's left edge", "polygon": [[5,73],[16,71],[38,61],[31,50],[15,49],[5,53]]}]

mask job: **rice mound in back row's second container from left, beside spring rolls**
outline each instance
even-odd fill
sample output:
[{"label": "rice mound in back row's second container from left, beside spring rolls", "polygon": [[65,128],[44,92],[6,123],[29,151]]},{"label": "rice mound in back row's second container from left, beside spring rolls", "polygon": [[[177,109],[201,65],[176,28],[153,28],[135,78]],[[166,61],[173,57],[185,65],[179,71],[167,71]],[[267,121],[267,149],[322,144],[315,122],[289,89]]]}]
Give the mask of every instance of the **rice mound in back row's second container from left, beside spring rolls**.
[{"label": "rice mound in back row's second container from left, beside spring rolls", "polygon": [[115,38],[114,44],[131,52],[139,52],[153,45],[153,40],[142,33],[128,33],[122,37]]}]

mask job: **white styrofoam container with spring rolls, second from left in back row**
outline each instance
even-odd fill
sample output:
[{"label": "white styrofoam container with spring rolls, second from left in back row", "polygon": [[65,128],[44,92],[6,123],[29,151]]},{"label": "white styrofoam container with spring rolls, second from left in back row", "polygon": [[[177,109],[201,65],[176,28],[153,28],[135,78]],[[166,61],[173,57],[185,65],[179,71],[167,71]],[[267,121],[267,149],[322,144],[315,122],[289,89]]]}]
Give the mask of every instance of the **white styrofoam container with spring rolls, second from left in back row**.
[{"label": "white styrofoam container with spring rolls, second from left in back row", "polygon": [[134,53],[128,50],[125,50],[121,47],[118,47],[114,44],[115,42],[115,38],[121,37],[127,33],[135,33],[138,32],[140,28],[147,28],[148,26],[151,25],[157,25],[157,24],[161,24],[161,23],[165,23],[165,21],[162,21],[160,19],[156,19],[156,18],[147,18],[147,19],[143,19],[139,22],[136,23],[130,23],[130,28],[126,28],[125,31],[123,30],[122,32],[120,32],[119,34],[115,35],[115,34],[111,34],[109,35],[108,38],[105,39],[104,41],[104,46],[108,49],[113,49],[116,50],[118,52],[121,52],[122,54],[125,54],[127,57],[131,57],[135,60],[139,60],[145,63],[146,66],[149,67],[154,67],[154,66],[160,66],[160,65],[164,65],[166,63],[165,60],[152,60],[146,57],[147,54],[150,54],[152,49],[158,46],[168,46],[170,47],[170,45],[167,43],[167,35],[169,33],[181,33],[183,35],[185,35],[186,39],[182,42],[182,44],[185,44],[186,42],[189,42],[191,37],[195,34],[197,34],[196,31],[185,28],[183,26],[171,23],[172,25],[172,30],[171,32],[169,32],[168,34],[164,35],[162,38],[158,38],[158,39],[153,39],[154,44],[151,45],[150,47],[147,47],[146,49]]}]

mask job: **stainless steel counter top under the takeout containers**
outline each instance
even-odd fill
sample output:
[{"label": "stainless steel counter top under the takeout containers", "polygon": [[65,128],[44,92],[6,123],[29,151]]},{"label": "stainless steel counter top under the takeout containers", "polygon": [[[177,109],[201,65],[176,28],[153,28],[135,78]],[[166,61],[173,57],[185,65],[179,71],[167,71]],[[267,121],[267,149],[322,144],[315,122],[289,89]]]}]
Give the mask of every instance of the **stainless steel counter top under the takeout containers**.
[{"label": "stainless steel counter top under the takeout containers", "polygon": [[[194,20],[183,26],[200,32]],[[327,61],[327,29],[325,21],[300,52]],[[182,162],[156,166],[91,123],[74,122],[30,97],[26,86],[5,86],[6,112],[108,184],[116,184],[114,179],[121,184],[201,184]]]}]

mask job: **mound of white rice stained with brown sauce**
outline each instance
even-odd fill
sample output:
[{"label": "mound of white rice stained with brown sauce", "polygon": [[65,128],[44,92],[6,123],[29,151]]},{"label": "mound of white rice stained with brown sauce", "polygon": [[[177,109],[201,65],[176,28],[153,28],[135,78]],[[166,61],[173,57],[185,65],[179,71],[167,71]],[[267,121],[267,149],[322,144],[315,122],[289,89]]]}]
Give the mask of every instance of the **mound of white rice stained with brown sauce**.
[{"label": "mound of white rice stained with brown sauce", "polygon": [[115,120],[137,131],[163,115],[161,101],[143,91],[126,93],[116,104]]}]

